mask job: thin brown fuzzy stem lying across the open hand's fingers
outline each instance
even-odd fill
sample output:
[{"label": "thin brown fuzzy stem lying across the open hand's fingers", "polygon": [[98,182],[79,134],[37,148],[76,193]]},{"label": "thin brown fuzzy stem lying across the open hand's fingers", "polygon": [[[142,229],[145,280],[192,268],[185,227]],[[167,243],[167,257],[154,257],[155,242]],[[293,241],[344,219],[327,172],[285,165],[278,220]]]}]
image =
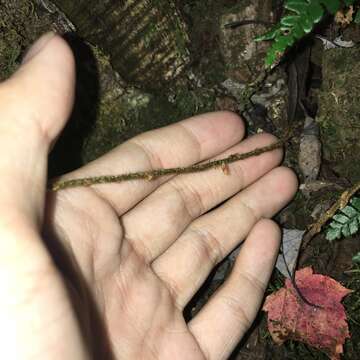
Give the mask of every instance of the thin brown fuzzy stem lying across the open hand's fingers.
[{"label": "thin brown fuzzy stem lying across the open hand's fingers", "polygon": [[275,150],[281,148],[286,141],[289,139],[289,136],[281,139],[273,144],[268,146],[264,146],[261,148],[256,148],[247,153],[236,153],[228,156],[224,159],[213,160],[209,162],[205,162],[202,164],[191,165],[188,167],[175,167],[175,168],[167,168],[167,169],[155,169],[150,171],[139,171],[132,172],[127,174],[120,175],[102,175],[102,176],[92,176],[80,179],[70,179],[70,180],[59,180],[49,184],[49,189],[52,191],[63,190],[71,187],[78,186],[91,186],[96,184],[108,184],[108,183],[119,183],[123,181],[129,180],[154,180],[161,176],[172,175],[172,174],[188,174],[188,173],[196,173],[201,171],[206,171],[214,168],[221,168],[225,173],[227,171],[227,166],[233,162],[244,160],[252,156],[261,155],[267,151]]}]

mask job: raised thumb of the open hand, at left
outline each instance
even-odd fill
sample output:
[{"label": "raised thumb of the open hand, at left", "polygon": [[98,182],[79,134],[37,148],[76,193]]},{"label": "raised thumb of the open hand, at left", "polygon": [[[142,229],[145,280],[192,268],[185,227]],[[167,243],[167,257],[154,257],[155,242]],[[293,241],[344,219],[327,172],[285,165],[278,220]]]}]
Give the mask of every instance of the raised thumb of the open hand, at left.
[{"label": "raised thumb of the open hand, at left", "polygon": [[72,108],[74,72],[66,42],[47,33],[0,84],[0,227],[14,217],[41,223],[48,151]]}]

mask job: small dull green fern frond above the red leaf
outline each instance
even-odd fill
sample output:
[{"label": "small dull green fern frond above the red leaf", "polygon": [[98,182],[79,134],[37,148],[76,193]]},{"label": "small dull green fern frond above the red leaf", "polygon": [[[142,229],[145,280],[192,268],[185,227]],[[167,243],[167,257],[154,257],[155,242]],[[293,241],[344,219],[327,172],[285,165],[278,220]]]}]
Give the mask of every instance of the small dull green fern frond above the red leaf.
[{"label": "small dull green fern frond above the red leaf", "polygon": [[332,218],[326,230],[329,241],[354,235],[360,226],[360,198],[353,197],[350,204],[339,210]]}]

